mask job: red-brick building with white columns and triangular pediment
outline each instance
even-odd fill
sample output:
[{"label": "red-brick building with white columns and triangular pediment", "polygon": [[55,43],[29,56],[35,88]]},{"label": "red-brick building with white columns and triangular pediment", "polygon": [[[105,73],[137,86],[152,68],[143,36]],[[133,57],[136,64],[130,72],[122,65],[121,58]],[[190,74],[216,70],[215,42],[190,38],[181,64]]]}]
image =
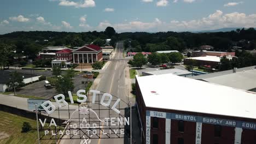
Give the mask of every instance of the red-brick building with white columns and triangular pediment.
[{"label": "red-brick building with white columns and triangular pediment", "polygon": [[73,63],[95,63],[102,59],[102,48],[97,45],[85,45],[73,51]]}]

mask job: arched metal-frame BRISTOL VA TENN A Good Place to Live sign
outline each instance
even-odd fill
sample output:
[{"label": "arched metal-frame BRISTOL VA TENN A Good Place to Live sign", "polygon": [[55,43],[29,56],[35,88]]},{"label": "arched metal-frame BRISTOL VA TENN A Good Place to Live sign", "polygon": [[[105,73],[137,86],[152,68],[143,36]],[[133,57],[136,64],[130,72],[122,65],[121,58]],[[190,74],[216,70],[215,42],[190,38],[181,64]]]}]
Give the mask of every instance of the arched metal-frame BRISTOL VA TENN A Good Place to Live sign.
[{"label": "arched metal-frame BRISTOL VA TENN A Good Place to Live sign", "polygon": [[43,107],[48,115],[43,119],[37,116],[39,140],[81,139],[81,143],[90,143],[91,139],[131,138],[131,105],[94,90],[87,95],[85,90],[79,90],[78,104],[75,104],[71,92],[68,94],[68,98],[56,95],[56,102],[46,100],[41,105],[36,104],[36,111]]}]

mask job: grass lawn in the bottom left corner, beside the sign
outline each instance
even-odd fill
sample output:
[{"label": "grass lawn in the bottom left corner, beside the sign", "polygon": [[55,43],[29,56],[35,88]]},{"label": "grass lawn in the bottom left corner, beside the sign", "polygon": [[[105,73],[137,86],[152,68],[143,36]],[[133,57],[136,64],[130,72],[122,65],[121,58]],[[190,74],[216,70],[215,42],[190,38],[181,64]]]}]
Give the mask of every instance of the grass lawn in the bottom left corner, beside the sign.
[{"label": "grass lawn in the bottom left corner, beside the sign", "polygon": [[[1,117],[1,135],[7,135],[4,139],[0,139],[0,143],[12,143],[12,144],[27,144],[34,143],[37,144],[37,130],[36,130],[36,121],[28,119],[25,117],[16,116],[7,112],[0,111]],[[32,126],[31,131],[27,133],[21,133],[21,128],[23,122],[29,122]],[[41,140],[41,143],[54,143],[53,140]]]}]

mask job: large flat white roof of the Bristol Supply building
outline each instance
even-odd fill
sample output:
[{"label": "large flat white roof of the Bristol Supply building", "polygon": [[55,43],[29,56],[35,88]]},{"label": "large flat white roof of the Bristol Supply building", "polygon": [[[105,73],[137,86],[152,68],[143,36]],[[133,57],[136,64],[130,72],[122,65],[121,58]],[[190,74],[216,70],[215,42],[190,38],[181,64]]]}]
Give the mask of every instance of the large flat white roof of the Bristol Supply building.
[{"label": "large flat white roof of the Bristol Supply building", "polygon": [[173,74],[136,79],[147,107],[256,119],[256,93]]}]

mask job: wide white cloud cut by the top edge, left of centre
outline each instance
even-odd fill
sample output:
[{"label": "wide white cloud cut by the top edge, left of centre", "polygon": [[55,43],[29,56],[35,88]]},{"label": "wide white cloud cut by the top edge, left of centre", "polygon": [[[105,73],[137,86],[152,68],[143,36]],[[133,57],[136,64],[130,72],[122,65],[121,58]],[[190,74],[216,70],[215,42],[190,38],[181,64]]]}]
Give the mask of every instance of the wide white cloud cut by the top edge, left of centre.
[{"label": "wide white cloud cut by the top edge, left of centre", "polygon": [[74,6],[75,8],[88,8],[88,7],[95,7],[94,0],[83,0],[82,2],[73,2],[67,0],[60,0],[59,5],[62,6]]}]

